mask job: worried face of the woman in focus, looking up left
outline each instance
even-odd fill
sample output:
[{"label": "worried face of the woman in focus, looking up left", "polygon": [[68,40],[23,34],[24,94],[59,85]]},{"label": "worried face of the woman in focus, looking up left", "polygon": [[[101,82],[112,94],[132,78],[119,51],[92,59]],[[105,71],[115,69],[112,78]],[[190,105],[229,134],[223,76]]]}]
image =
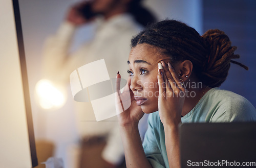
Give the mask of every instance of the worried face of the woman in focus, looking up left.
[{"label": "worried face of the woman in focus, looking up left", "polygon": [[160,50],[150,44],[138,44],[129,55],[130,88],[144,113],[158,110],[158,63],[162,60],[167,63],[169,60]]}]

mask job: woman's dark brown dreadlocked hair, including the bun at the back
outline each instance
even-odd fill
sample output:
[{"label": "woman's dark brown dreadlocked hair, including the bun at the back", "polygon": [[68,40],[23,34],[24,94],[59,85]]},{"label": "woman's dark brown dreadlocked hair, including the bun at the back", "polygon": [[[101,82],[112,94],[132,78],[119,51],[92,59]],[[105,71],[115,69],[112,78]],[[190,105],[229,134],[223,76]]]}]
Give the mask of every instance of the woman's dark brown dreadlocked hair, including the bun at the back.
[{"label": "woman's dark brown dreadlocked hair, including the bun at the back", "polygon": [[231,59],[236,46],[231,46],[228,36],[218,30],[208,30],[203,36],[176,20],[163,20],[148,26],[132,39],[131,47],[147,43],[163,50],[170,62],[190,60],[200,81],[210,87],[219,87],[227,78],[230,62],[248,70],[248,67]]}]

